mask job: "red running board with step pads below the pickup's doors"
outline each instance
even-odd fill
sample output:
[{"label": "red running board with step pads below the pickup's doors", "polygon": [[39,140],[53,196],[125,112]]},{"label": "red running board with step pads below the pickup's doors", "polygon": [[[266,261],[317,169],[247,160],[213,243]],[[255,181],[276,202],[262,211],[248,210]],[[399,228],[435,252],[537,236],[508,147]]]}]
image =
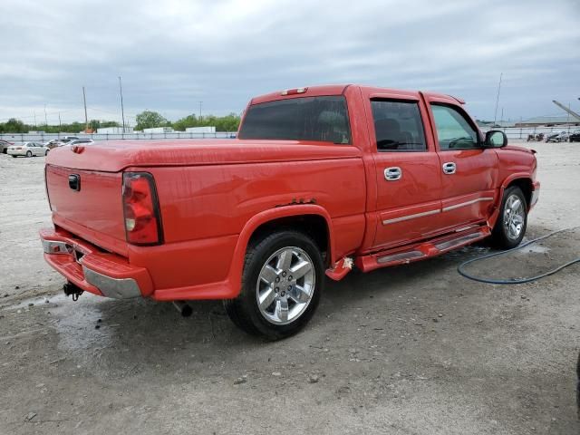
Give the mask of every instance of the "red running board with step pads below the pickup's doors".
[{"label": "red running board with step pads below the pickup's doors", "polygon": [[399,247],[368,256],[358,256],[355,260],[355,265],[362,272],[369,272],[379,267],[406,265],[430,256],[440,256],[451,249],[464,247],[488,237],[490,234],[491,230],[488,226],[471,227],[459,233],[455,232],[445,237],[434,238],[411,247]]}]

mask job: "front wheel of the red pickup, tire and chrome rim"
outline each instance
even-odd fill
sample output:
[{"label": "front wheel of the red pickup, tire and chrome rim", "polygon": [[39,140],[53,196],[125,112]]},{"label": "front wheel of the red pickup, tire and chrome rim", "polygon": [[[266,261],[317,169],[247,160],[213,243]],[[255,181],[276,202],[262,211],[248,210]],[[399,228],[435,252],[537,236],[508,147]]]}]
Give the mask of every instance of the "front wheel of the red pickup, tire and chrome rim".
[{"label": "front wheel of the red pickup, tire and chrome rim", "polygon": [[493,245],[501,249],[517,247],[527,228],[527,200],[517,186],[504,191],[496,226],[491,232]]}]

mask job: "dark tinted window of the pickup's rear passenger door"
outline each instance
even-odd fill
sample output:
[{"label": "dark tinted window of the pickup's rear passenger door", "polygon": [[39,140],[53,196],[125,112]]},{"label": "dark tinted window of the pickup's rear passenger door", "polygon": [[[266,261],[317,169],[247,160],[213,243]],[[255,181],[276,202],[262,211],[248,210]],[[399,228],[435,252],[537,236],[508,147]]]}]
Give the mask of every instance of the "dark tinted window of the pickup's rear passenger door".
[{"label": "dark tinted window of the pickup's rear passenger door", "polygon": [[378,151],[427,150],[418,102],[373,100]]}]

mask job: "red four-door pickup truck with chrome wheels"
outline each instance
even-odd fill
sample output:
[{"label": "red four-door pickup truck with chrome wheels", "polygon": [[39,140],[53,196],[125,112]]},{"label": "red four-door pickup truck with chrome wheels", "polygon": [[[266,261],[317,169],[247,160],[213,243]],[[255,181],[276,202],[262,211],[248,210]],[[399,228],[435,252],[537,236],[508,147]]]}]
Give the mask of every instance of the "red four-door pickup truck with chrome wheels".
[{"label": "red four-door pickup truck with chrome wheels", "polygon": [[462,104],[315,86],[254,98],[237,140],[55,149],[44,258],[73,298],[223,299],[248,333],[283,338],[314,314],[324,275],[520,243],[534,151],[483,134]]}]

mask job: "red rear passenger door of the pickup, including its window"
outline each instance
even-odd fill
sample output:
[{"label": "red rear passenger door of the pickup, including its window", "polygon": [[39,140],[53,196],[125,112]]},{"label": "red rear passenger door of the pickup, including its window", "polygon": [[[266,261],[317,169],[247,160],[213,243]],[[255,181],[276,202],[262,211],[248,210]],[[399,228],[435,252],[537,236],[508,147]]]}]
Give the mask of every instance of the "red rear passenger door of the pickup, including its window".
[{"label": "red rear passenger door of the pickup, including its window", "polygon": [[374,94],[366,102],[377,185],[373,246],[430,237],[440,228],[441,174],[420,95]]}]

